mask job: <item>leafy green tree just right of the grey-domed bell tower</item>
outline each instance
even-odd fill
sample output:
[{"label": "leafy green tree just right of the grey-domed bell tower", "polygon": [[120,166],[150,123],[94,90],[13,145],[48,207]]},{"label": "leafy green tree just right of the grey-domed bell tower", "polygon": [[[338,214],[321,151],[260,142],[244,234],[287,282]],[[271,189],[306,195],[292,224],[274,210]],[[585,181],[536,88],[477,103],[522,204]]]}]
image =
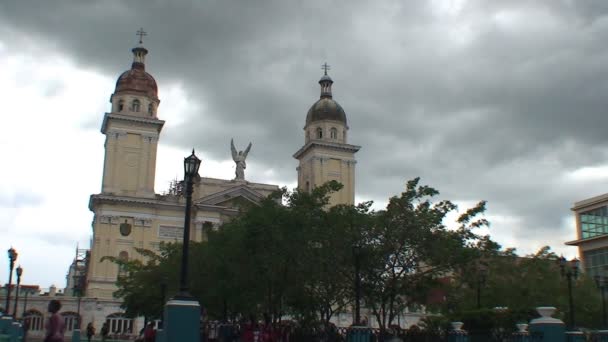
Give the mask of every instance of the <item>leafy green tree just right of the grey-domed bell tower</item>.
[{"label": "leafy green tree just right of the grey-domed bell tower", "polygon": [[370,214],[372,224],[356,227],[363,240],[363,295],[381,329],[406,305],[424,304],[440,278],[477,255],[482,237],[473,229],[487,225],[478,217],[485,202],[460,215],[452,230],[444,221],[457,207],[447,200],[431,202],[438,194],[419,185],[419,178],[410,180],[385,210]]}]

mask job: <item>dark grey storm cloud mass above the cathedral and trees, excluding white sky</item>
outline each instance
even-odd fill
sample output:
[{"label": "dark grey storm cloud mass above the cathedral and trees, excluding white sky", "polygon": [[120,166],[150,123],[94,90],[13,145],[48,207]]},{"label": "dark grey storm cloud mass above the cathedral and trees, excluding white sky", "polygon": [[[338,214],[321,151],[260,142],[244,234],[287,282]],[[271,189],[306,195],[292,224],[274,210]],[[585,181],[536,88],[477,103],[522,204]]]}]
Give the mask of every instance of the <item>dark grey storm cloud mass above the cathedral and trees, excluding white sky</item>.
[{"label": "dark grey storm cloud mass above the cathedral and trees, excluding white sky", "polygon": [[555,234],[572,202],[608,190],[564,180],[608,160],[608,4],[432,3],[447,4],[20,0],[0,3],[0,27],[17,33],[9,43],[27,36],[118,76],[143,26],[161,100],[179,82],[200,108],[163,141],[221,159],[231,137],[253,141],[248,176],[273,169],[284,183],[328,61],[350,143],[363,146],[359,195],[385,200],[422,176],[447,198],[517,217],[522,241]]}]

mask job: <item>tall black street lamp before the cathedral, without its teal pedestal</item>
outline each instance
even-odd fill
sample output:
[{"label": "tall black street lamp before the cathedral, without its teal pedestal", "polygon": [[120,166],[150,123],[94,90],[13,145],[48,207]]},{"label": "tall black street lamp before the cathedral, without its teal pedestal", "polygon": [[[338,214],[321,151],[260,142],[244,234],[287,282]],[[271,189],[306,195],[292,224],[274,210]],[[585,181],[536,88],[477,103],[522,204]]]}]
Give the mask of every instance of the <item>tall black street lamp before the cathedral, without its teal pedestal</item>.
[{"label": "tall black street lamp before the cathedral, without its teal pedestal", "polygon": [[179,282],[179,296],[190,298],[188,293],[188,250],[190,245],[190,212],[192,207],[192,181],[198,175],[201,160],[196,157],[194,150],[192,154],[184,158],[184,181],[186,183],[186,217],[184,219],[184,240],[182,243],[182,264]]}]

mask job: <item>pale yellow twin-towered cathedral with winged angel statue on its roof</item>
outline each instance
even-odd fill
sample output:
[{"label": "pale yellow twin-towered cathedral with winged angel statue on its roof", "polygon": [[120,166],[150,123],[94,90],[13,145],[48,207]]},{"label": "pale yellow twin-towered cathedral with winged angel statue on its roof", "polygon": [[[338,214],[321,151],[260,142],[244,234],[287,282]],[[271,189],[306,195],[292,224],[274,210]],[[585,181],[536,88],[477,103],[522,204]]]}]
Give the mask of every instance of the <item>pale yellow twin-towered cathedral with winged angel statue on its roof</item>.
[{"label": "pale yellow twin-towered cathedral with winged angel statue on its roof", "polygon": [[[26,312],[22,314],[37,322],[31,336],[43,333],[41,322],[47,315],[49,296],[62,297],[68,334],[76,327],[78,316],[83,327],[93,322],[99,331],[107,322],[112,333],[136,333],[143,321],[123,315],[120,298],[113,296],[119,267],[103,257],[141,258],[136,248],[157,250],[161,242],[182,241],[186,202],[182,183],[175,182],[162,194],[154,189],[156,153],[165,121],[159,115],[161,101],[156,80],[146,71],[148,50],[141,36],[132,52],[131,68],[118,77],[110,97],[110,111],[101,122],[105,158],[101,192],[89,200],[93,212],[90,250],[77,249],[63,292],[52,289],[30,298],[29,310],[24,308]],[[327,74],[327,65],[324,69],[319,80],[320,98],[306,115],[304,143],[293,155],[298,160],[298,188],[310,191],[336,180],[344,187],[332,195],[330,204],[353,204],[354,155],[360,147],[348,144],[346,113],[333,99],[333,80]],[[208,230],[219,229],[238,215],[240,208],[255,205],[279,190],[277,185],[246,180],[243,169],[249,147],[244,152],[231,147],[237,164],[234,179],[194,179],[190,226],[193,241],[203,241]],[[73,292],[77,284],[84,289],[81,298]]]}]

